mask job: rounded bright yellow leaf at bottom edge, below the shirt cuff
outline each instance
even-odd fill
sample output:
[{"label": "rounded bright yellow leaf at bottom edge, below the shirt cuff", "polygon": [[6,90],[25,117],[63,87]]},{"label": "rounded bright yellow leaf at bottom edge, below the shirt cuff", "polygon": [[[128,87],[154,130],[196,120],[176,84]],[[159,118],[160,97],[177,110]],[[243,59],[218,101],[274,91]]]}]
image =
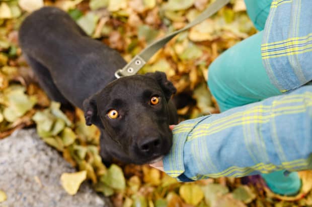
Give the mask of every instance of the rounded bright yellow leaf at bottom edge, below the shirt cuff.
[{"label": "rounded bright yellow leaf at bottom edge, below the shirt cuff", "polygon": [[196,184],[184,184],[179,190],[180,196],[185,202],[191,205],[197,205],[203,198],[204,193],[199,185]]}]

